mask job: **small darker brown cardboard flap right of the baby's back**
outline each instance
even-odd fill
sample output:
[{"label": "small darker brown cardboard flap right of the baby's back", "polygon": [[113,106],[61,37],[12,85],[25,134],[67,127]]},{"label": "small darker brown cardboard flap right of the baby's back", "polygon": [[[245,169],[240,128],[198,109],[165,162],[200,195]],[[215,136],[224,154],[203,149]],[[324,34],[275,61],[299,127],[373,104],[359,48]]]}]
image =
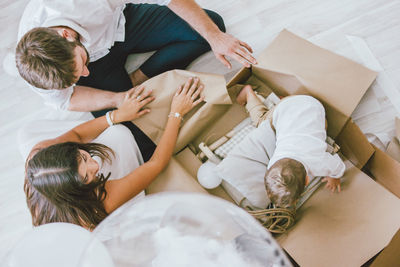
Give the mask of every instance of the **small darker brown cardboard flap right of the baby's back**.
[{"label": "small darker brown cardboard flap right of the baby's back", "polygon": [[345,125],[336,142],[340,146],[341,153],[359,169],[364,167],[375,152],[368,139],[352,120]]}]

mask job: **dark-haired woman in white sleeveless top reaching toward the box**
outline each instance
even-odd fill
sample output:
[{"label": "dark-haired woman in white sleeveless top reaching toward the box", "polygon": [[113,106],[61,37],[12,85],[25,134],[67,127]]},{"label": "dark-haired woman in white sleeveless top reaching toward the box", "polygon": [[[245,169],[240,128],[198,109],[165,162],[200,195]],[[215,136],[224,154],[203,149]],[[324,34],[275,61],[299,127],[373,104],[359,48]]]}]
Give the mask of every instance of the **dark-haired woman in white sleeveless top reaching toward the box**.
[{"label": "dark-haired woman in white sleeveless top reaching toward the box", "polygon": [[[124,126],[113,126],[105,131],[113,124],[150,112],[142,108],[154,97],[150,96],[150,91],[143,93],[143,87],[128,95],[119,109],[80,124],[55,139],[36,144],[26,162],[24,184],[33,224],[69,222],[93,229],[109,213],[140,194],[168,164],[182,116],[203,101],[202,89],[198,78],[190,78],[180,86],[173,97],[165,131],[146,163],[137,152],[133,136],[128,130],[123,131]],[[113,134],[109,130],[113,130]],[[118,151],[104,144],[90,143],[107,132],[103,139],[119,145]],[[129,132],[128,138],[126,132]],[[129,149],[136,149],[129,157],[115,153]],[[115,164],[118,167],[113,169]],[[104,166],[111,168],[104,170]],[[109,179],[114,172],[129,168],[128,173],[118,177],[120,179]]]}]

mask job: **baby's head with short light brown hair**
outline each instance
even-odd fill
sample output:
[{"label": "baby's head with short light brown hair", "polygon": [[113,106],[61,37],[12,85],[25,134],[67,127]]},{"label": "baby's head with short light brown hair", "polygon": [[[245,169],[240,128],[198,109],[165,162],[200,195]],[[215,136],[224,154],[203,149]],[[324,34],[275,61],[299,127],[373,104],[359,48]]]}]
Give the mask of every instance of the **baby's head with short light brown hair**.
[{"label": "baby's head with short light brown hair", "polygon": [[306,185],[306,177],[306,169],[297,160],[278,160],[264,178],[269,199],[280,208],[294,208]]}]

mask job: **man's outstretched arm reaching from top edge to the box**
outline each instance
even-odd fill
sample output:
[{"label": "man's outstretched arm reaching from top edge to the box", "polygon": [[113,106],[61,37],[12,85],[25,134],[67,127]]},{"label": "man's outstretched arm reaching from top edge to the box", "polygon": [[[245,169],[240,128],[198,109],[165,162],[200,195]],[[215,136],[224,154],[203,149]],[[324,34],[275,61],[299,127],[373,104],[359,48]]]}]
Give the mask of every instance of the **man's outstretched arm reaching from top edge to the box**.
[{"label": "man's outstretched arm reaching from top edge to the box", "polygon": [[245,67],[250,67],[249,63],[257,64],[256,59],[250,54],[253,53],[251,47],[232,35],[222,32],[194,0],[171,0],[168,7],[207,40],[215,57],[226,67],[232,67],[226,56],[235,59]]}]

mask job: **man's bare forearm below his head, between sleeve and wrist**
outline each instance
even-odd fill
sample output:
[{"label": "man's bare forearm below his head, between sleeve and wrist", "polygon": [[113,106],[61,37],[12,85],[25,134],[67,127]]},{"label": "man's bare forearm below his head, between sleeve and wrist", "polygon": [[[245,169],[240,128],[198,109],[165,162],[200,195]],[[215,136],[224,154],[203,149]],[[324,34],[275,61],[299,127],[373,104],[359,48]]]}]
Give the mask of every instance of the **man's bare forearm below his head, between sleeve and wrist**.
[{"label": "man's bare forearm below his head, between sleeve and wrist", "polygon": [[129,91],[115,93],[77,85],[74,87],[74,92],[71,95],[68,110],[96,111],[106,108],[117,108],[121,105],[125,95]]}]

